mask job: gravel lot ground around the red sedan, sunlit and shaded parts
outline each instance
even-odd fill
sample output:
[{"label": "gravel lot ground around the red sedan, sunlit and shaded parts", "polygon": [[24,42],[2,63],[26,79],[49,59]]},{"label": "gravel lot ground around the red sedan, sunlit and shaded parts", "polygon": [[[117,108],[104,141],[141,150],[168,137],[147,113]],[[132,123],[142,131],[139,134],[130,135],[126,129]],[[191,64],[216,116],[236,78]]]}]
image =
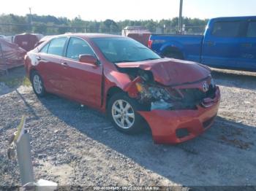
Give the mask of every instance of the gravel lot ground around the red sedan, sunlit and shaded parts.
[{"label": "gravel lot ground around the red sedan, sunlit and shaded parts", "polygon": [[149,130],[128,136],[86,106],[56,95],[37,98],[23,68],[12,69],[0,77],[0,186],[20,184],[7,148],[23,114],[36,179],[87,186],[256,185],[256,73],[214,69],[212,75],[222,93],[212,128],[184,144],[157,145]]}]

